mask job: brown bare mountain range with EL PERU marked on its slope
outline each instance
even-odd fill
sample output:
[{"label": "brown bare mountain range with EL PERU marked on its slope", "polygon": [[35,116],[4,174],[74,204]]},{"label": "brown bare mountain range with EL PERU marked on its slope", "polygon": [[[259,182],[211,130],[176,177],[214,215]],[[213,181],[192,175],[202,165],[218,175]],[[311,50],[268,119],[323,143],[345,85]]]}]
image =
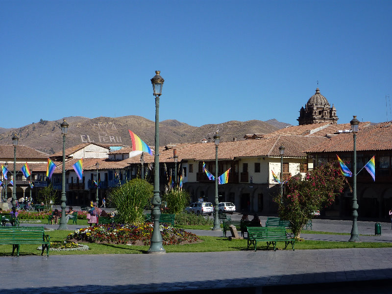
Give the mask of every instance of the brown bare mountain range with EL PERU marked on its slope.
[{"label": "brown bare mountain range with EL PERU marked on its slope", "polygon": [[[66,135],[66,148],[81,143],[98,143],[109,145],[130,146],[131,139],[128,129],[137,134],[149,146],[154,146],[155,122],[140,116],[124,116],[117,118],[98,117],[89,119],[85,117],[64,118],[69,123]],[[275,125],[289,125],[270,120]],[[0,132],[0,145],[12,144],[13,133],[19,137],[19,145],[52,154],[62,150],[63,138],[60,124],[63,119],[56,121],[40,120],[20,128],[3,129]],[[245,134],[265,134],[279,129],[263,121],[238,122],[230,121],[219,124],[205,124],[200,127],[181,123],[176,120],[166,120],[159,123],[159,145],[175,143],[200,142],[201,139],[211,138],[219,131],[221,141],[231,141],[233,138],[243,140]]]}]

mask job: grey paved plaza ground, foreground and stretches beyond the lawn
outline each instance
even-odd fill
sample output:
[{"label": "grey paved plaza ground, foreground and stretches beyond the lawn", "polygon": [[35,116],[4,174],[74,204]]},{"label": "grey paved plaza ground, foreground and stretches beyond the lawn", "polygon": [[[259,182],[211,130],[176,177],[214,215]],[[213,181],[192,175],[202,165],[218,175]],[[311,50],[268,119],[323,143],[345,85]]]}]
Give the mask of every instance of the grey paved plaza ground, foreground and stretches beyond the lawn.
[{"label": "grey paved plaza ground, foreground and stretches beyond the lawn", "polygon": [[[265,219],[262,218],[263,224]],[[351,224],[351,221],[314,220],[313,230],[349,233]],[[360,236],[361,241],[392,242],[391,224],[381,225],[382,235],[374,236],[374,222],[359,221],[360,234],[368,235]],[[219,231],[190,231],[222,236]],[[347,235],[301,237],[332,242],[349,239]],[[0,257],[1,294],[178,291],[383,294],[392,293],[391,278],[392,248]]]}]

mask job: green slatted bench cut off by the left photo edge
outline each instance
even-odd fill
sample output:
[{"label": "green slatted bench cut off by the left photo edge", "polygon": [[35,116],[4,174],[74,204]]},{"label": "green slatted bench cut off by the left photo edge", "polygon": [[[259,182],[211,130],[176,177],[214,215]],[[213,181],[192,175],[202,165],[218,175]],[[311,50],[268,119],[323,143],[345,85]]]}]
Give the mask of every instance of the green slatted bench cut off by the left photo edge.
[{"label": "green slatted bench cut off by the left photo edge", "polygon": [[0,245],[12,245],[11,255],[14,255],[17,249],[19,256],[22,244],[41,244],[41,255],[44,254],[46,248],[47,256],[49,256],[50,236],[45,234],[44,227],[0,227]]}]

